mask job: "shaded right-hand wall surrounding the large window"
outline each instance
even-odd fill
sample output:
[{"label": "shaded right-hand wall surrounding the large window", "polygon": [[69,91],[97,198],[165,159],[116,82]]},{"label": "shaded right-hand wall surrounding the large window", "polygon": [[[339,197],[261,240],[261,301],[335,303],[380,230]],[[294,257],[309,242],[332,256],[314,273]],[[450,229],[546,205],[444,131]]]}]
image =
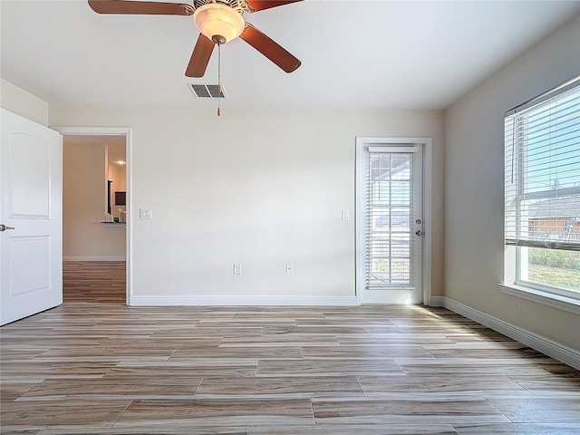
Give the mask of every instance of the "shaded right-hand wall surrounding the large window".
[{"label": "shaded right-hand wall surrounding the large window", "polygon": [[580,17],[446,112],[445,295],[580,349],[580,318],[499,292],[503,275],[504,112],[580,74]]}]

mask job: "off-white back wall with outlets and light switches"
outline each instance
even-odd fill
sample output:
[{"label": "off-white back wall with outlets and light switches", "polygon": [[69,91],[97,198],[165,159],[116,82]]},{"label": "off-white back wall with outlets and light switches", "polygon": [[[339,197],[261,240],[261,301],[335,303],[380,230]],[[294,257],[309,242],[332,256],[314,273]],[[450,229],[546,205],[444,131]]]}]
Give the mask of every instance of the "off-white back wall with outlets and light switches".
[{"label": "off-white back wall with outlets and light switches", "polygon": [[[433,293],[442,295],[440,111],[225,102],[218,118],[213,106],[54,106],[51,124],[132,128],[132,301],[140,303],[353,300],[354,221],[341,210],[354,216],[355,137],[432,137]],[[136,218],[140,208],[153,218]]]}]

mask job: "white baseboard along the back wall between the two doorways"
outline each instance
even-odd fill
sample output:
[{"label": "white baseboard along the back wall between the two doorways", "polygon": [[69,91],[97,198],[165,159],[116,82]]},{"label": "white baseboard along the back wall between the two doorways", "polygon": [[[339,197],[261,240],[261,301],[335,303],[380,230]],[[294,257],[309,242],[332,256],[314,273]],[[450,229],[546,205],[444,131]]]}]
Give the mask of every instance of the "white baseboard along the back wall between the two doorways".
[{"label": "white baseboard along the back wall between the two doorways", "polygon": [[313,305],[313,306],[355,306],[356,296],[137,296],[131,295],[134,306],[238,306],[238,305]]}]

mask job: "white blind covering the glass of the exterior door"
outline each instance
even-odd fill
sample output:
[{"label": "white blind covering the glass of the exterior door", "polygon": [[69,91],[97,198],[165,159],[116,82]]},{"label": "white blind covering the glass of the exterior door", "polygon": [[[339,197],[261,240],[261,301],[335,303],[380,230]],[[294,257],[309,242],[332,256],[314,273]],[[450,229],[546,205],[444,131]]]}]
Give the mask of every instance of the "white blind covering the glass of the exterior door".
[{"label": "white blind covering the glass of the exterior door", "polygon": [[369,150],[366,288],[413,284],[412,153]]}]

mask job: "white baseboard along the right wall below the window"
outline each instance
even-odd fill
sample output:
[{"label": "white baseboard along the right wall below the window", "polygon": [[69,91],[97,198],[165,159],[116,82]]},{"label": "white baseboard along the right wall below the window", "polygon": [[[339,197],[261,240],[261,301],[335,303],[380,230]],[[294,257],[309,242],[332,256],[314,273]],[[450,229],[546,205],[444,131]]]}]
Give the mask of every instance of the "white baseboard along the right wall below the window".
[{"label": "white baseboard along the right wall below the window", "polygon": [[531,333],[515,324],[509,324],[497,317],[482,313],[468,305],[449,299],[449,297],[431,297],[431,305],[444,306],[454,313],[467,317],[478,324],[488,326],[488,328],[491,328],[498,333],[503,333],[519,343],[524,343],[532,349],[536,349],[536,351],[545,353],[560,362],[564,362],[565,364],[580,370],[580,352],[566,346],[565,344],[555,342],[554,340],[537,333]]}]

